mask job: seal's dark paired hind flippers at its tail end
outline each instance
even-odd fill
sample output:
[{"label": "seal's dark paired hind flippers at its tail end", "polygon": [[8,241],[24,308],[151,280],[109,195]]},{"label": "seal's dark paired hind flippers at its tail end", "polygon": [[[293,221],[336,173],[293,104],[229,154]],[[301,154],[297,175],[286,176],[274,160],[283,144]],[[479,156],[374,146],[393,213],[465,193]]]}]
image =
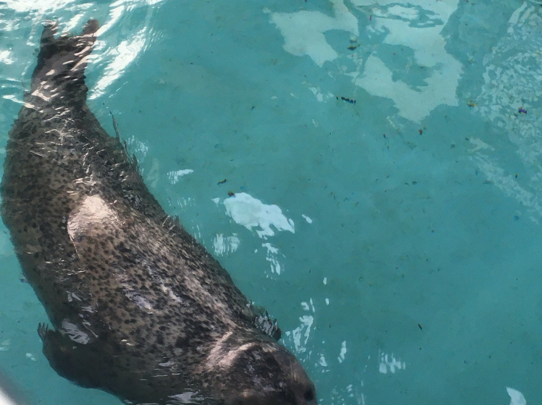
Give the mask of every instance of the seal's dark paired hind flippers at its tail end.
[{"label": "seal's dark paired hind flippers at its tail end", "polygon": [[81,34],[60,35],[55,38],[58,25],[56,22],[47,21],[41,36],[37,66],[32,74],[31,91],[51,87],[43,86],[45,83],[53,84],[54,88],[59,88],[64,83],[69,86],[84,84],[87,56],[94,47],[98,28],[98,21],[89,19]]}]

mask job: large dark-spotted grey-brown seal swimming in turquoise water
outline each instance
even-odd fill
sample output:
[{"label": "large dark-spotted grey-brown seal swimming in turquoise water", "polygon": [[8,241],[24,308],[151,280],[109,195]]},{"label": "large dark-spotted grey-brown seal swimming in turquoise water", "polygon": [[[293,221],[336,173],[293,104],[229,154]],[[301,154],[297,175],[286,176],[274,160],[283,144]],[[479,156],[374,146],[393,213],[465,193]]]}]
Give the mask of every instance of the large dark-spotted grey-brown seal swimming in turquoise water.
[{"label": "large dark-spotted grey-brown seal swimming in turquoise water", "polygon": [[45,24],[6,147],[1,213],[53,325],[38,326],[49,363],[132,403],[315,405],[276,323],[164,212],[89,110],[97,30]]}]

